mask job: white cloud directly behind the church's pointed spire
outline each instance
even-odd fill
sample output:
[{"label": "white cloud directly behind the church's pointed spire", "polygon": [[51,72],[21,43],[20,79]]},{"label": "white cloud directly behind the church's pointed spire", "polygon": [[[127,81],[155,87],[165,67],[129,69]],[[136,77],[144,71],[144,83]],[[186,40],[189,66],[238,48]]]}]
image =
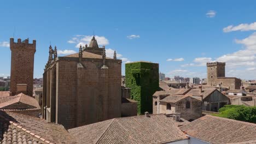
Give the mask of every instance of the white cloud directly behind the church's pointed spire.
[{"label": "white cloud directly behind the church's pointed spire", "polygon": [[[77,44],[75,47],[79,47],[80,45],[85,45],[90,43],[93,35],[75,35],[75,37],[71,38],[67,42],[69,44]],[[95,35],[95,39],[97,40],[98,45],[108,45],[109,41],[103,36]]]}]

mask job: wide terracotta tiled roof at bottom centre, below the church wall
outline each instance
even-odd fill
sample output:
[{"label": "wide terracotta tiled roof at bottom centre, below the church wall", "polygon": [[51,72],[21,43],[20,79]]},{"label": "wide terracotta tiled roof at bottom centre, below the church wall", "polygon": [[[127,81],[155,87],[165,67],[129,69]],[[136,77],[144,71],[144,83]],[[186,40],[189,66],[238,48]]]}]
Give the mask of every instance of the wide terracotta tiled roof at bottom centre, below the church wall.
[{"label": "wide terracotta tiled roof at bottom centre, below the church wall", "polygon": [[82,143],[167,143],[188,137],[165,115],[114,118],[68,130]]}]

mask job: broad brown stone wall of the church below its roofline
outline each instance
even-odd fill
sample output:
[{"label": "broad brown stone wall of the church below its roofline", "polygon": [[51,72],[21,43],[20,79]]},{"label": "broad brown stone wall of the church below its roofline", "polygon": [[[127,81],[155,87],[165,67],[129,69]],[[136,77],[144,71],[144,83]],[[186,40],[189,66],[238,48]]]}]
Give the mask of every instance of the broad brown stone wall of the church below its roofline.
[{"label": "broad brown stone wall of the church below its roofline", "polygon": [[[121,117],[121,61],[56,62],[56,122],[65,128]],[[52,86],[53,87],[53,86]]]}]

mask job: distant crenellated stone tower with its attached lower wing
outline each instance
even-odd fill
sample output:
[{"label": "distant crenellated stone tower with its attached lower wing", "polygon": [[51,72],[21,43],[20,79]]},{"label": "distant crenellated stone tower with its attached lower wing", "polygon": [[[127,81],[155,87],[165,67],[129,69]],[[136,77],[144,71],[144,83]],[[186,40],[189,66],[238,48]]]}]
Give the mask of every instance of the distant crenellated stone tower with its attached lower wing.
[{"label": "distant crenellated stone tower with its attached lower wing", "polygon": [[225,63],[207,63],[207,85],[216,87],[218,84],[229,89],[240,89],[241,80],[236,77],[225,77]]}]

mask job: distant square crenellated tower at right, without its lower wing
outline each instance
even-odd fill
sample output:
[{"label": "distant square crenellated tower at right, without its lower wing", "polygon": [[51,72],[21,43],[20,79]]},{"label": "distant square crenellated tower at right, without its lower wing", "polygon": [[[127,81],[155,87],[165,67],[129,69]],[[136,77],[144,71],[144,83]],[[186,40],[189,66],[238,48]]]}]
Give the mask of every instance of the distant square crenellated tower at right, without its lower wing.
[{"label": "distant square crenellated tower at right, without its lower wing", "polygon": [[213,62],[207,63],[208,85],[214,86],[218,77],[225,77],[225,63]]}]

